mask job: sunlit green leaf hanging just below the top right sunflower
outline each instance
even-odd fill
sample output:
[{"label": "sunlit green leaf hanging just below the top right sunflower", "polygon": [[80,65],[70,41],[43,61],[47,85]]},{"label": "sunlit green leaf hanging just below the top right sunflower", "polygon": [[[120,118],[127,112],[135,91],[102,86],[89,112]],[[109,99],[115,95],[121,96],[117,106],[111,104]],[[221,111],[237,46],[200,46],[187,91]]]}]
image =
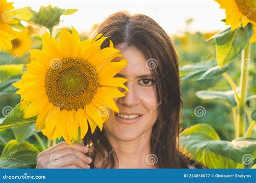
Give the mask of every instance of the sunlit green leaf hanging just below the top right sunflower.
[{"label": "sunlit green leaf hanging just below the top right sunflower", "polygon": [[216,41],[217,62],[221,67],[232,62],[245,48],[253,34],[252,24],[231,31],[230,28],[210,38]]}]

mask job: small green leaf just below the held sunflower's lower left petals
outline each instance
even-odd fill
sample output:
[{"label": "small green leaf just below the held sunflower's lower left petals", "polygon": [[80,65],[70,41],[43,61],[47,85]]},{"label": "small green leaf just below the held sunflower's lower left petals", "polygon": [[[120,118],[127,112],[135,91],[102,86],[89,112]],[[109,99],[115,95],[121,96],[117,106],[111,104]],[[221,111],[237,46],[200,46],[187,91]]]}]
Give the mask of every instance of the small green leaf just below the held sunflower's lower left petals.
[{"label": "small green leaf just below the held sunflower's lower left petals", "polygon": [[17,139],[18,143],[21,143],[36,132],[36,126],[35,124],[29,124],[13,128],[12,130],[14,131],[15,138]]}]

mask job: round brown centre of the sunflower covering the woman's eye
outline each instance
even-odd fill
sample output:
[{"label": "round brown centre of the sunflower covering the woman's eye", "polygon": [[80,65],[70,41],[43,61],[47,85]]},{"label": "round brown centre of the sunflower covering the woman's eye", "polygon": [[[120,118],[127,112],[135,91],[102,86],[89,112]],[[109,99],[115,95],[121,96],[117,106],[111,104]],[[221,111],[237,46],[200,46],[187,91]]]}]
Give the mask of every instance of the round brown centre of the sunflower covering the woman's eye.
[{"label": "round brown centre of the sunflower covering the woman's eye", "polygon": [[63,58],[49,69],[46,94],[60,109],[77,110],[89,104],[100,86],[96,69],[83,58]]}]

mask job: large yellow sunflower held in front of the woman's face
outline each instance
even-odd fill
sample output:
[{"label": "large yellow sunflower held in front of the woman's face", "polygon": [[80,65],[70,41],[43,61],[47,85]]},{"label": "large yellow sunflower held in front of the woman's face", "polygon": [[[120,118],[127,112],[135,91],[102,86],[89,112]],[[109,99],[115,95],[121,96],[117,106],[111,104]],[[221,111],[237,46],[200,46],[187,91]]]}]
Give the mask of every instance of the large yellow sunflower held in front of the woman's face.
[{"label": "large yellow sunflower held in front of the woman's face", "polygon": [[[24,118],[37,116],[36,130],[42,129],[50,139],[63,138],[71,144],[78,135],[82,138],[89,122],[93,133],[112,112],[119,109],[113,98],[125,96],[127,79],[115,78],[127,64],[119,50],[110,46],[100,49],[107,37],[98,34],[95,39],[80,41],[75,29],[72,34],[63,29],[59,41],[49,33],[42,37],[42,50],[31,50],[31,63],[22,80],[14,83],[21,95]],[[28,106],[29,105],[29,106]],[[27,107],[28,106],[28,107]]]}]

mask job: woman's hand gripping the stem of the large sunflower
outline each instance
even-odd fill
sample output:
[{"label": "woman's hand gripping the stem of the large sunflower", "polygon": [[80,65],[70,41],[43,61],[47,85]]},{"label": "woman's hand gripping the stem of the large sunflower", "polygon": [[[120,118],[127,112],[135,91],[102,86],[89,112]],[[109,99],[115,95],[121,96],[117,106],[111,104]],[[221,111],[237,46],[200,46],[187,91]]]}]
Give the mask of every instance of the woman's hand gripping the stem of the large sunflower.
[{"label": "woman's hand gripping the stem of the large sunflower", "polygon": [[60,142],[37,155],[36,168],[90,168],[92,159],[85,153],[88,147]]}]

